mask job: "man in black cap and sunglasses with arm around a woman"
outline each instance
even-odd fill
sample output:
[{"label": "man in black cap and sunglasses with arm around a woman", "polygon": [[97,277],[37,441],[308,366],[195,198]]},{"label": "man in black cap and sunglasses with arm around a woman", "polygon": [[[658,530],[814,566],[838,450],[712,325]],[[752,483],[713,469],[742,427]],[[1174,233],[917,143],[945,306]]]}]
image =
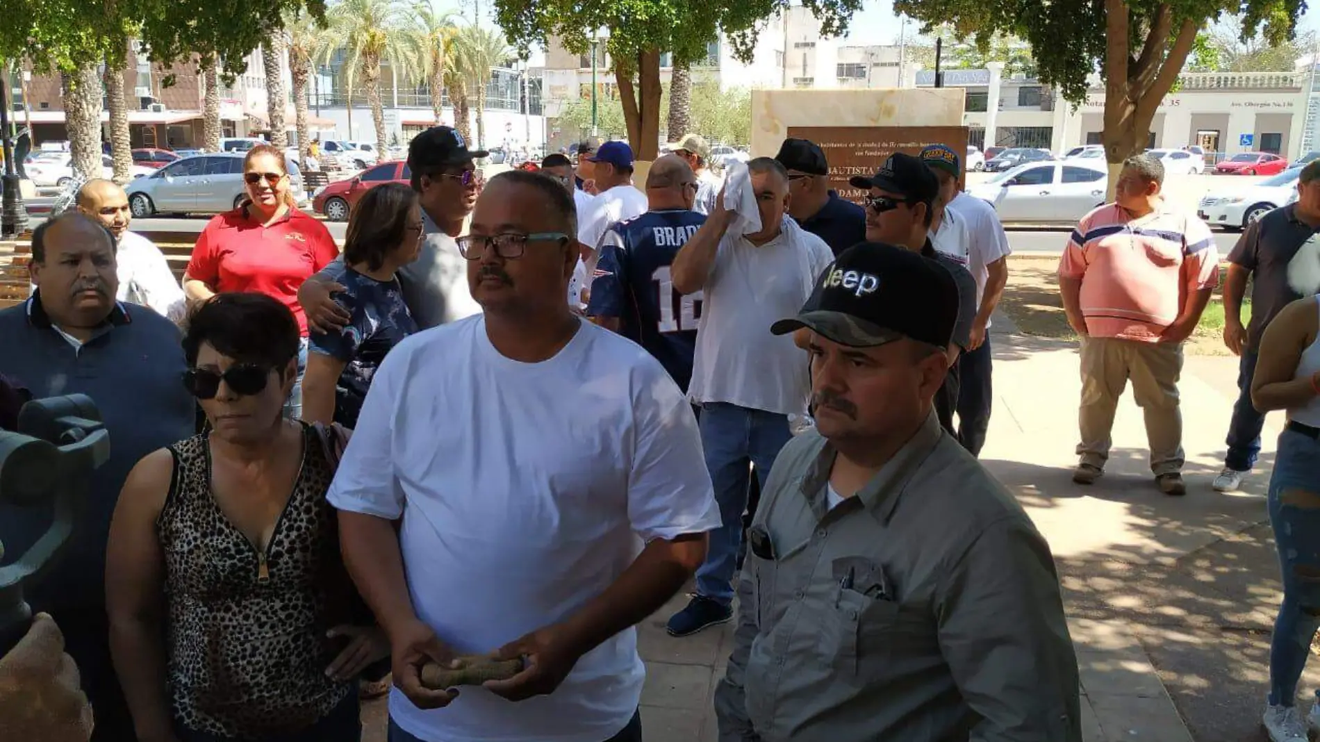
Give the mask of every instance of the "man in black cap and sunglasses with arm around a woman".
[{"label": "man in black cap and sunglasses with arm around a woman", "polygon": [[[408,169],[420,195],[426,240],[417,260],[399,269],[399,285],[408,312],[424,330],[480,312],[467,290],[465,261],[454,238],[462,234],[484,184],[474,160],[487,154],[484,149],[469,149],[463,136],[450,127],[432,127],[408,145]],[[343,290],[337,283],[343,271],[341,257],[298,289],[298,304],[317,331],[338,333],[350,321],[330,296]]]}]

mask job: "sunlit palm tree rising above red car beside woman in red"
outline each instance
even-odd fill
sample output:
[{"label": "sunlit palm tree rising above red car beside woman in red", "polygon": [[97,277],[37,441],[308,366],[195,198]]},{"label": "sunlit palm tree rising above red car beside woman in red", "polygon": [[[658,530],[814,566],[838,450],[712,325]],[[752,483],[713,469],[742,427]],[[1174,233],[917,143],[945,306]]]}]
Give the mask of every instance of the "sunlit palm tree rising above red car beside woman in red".
[{"label": "sunlit palm tree rising above red car beside woman in red", "polygon": [[396,70],[420,67],[417,36],[409,33],[411,8],[401,0],[342,0],[326,16],[329,44],[322,55],[329,59],[337,49],[345,50],[345,84],[350,91],[356,75],[362,75],[376,125],[376,148],[381,149],[388,139],[380,104],[380,63],[388,61]]}]

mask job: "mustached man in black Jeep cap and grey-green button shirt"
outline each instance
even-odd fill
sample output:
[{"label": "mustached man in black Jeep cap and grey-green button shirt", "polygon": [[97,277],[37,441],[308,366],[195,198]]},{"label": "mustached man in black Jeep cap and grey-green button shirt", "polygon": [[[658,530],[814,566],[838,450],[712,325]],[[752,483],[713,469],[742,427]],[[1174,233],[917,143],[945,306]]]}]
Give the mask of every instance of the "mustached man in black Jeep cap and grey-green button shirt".
[{"label": "mustached man in black Jeep cap and grey-green button shirt", "polygon": [[1077,659],[1049,547],[936,420],[958,322],[946,269],[863,243],[817,281],[816,426],[750,531],[722,742],[1080,742]]}]

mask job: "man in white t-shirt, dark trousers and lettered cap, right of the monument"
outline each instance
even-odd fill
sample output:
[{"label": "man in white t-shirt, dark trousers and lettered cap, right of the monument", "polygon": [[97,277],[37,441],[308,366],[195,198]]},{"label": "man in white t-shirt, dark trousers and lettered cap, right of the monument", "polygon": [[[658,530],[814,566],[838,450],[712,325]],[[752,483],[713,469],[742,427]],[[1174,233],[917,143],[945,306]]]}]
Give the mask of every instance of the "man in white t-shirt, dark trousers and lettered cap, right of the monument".
[{"label": "man in white t-shirt, dark trousers and lettered cap, right of the monument", "polygon": [[[1008,235],[994,206],[958,190],[962,169],[957,153],[942,144],[921,151],[921,160],[940,181],[944,215],[952,231],[937,231],[931,242],[953,257],[977,283],[977,314],[972,323],[972,347],[958,359],[958,442],[972,455],[981,455],[990,428],[993,387],[990,316],[1008,283]],[[957,236],[961,235],[961,236]]]}]

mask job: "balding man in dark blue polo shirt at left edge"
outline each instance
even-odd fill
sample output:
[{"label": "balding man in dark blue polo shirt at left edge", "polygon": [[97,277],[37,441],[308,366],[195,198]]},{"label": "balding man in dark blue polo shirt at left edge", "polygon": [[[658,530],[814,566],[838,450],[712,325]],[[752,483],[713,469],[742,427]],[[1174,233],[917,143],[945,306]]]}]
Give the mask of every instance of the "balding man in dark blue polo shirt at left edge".
[{"label": "balding man in dark blue polo shirt at left edge", "polygon": [[[70,211],[32,234],[36,293],[0,310],[0,375],[36,397],[84,393],[110,432],[110,459],[91,478],[81,532],[58,565],[28,591],[55,618],[95,709],[92,739],[133,739],[133,724],[110,659],[106,544],[128,471],[148,453],[194,432],[195,401],[183,388],[180,331],[156,312],[115,301],[115,240],[98,220]],[[45,507],[0,507],[5,556],[21,555],[50,527]],[[3,561],[3,560],[0,560]]]}]

